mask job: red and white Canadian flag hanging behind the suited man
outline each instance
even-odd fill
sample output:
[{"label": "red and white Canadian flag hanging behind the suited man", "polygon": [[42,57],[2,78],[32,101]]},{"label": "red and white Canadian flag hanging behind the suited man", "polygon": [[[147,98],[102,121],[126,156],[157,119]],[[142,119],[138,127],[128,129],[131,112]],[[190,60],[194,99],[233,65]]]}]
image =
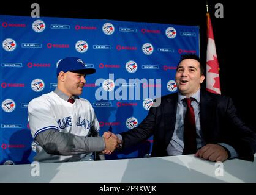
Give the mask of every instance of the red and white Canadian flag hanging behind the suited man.
[{"label": "red and white Canadian flag hanging behind the suited man", "polygon": [[206,55],[206,90],[211,93],[220,93],[220,79],[219,79],[219,62],[217,59],[215,41],[213,35],[213,26],[211,26],[211,18],[209,12],[207,17],[207,55]]}]

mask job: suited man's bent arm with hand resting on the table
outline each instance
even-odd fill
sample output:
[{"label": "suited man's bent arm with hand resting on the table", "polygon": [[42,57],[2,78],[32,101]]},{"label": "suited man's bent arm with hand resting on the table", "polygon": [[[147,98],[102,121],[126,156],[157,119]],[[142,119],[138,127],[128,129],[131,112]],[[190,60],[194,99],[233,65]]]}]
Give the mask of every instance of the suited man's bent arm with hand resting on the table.
[{"label": "suited man's bent arm with hand resting on the table", "polygon": [[[222,140],[218,144],[206,144],[195,154],[211,161],[225,161],[228,158],[253,160],[256,134],[239,118],[231,98],[220,97],[220,117],[224,121]],[[225,127],[225,128],[224,128]]]}]

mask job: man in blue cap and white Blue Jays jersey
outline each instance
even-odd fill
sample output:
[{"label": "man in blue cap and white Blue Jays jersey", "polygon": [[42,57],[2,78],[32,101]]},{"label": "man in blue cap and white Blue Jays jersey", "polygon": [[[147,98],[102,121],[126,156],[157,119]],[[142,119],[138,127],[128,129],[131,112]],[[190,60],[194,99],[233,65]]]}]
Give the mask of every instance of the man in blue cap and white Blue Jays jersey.
[{"label": "man in blue cap and white Blue Jays jersey", "polygon": [[66,57],[58,63],[55,91],[29,102],[29,126],[37,144],[35,161],[88,161],[94,159],[93,152],[115,150],[119,140],[99,137],[92,105],[79,97],[85,76],[95,72],[80,58]]}]

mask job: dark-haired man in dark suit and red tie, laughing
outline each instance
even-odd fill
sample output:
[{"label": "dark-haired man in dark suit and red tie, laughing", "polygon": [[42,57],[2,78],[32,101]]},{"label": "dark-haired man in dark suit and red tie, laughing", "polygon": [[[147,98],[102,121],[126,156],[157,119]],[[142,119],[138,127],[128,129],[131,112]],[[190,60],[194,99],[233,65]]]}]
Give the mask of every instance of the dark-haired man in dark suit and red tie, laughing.
[{"label": "dark-haired man in dark suit and red tie, laughing", "polygon": [[[253,161],[255,132],[238,117],[231,98],[200,89],[204,79],[197,55],[181,56],[175,76],[178,93],[162,96],[160,106],[151,107],[138,127],[117,135],[122,140],[121,147],[133,146],[154,135],[151,157],[194,154],[210,161],[236,157]],[[184,129],[186,111],[189,110],[184,99],[191,99],[195,125],[194,150],[186,141],[193,136],[187,135]],[[191,126],[189,124],[189,128]],[[105,136],[116,137],[110,132]],[[189,152],[184,150],[186,147],[190,147]]]}]

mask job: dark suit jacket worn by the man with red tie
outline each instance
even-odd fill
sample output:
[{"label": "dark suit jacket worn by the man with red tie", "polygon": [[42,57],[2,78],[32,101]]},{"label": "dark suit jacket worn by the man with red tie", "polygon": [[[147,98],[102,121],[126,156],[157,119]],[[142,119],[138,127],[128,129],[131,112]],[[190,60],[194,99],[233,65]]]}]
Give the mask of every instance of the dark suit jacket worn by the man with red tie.
[{"label": "dark suit jacket worn by the man with red tie", "polygon": [[[151,107],[141,124],[120,133],[122,148],[130,147],[154,135],[151,157],[166,156],[176,122],[178,93],[161,97],[159,107]],[[213,93],[200,93],[201,131],[206,144],[227,143],[238,152],[239,158],[253,161],[256,134],[236,114],[232,99]]]}]

